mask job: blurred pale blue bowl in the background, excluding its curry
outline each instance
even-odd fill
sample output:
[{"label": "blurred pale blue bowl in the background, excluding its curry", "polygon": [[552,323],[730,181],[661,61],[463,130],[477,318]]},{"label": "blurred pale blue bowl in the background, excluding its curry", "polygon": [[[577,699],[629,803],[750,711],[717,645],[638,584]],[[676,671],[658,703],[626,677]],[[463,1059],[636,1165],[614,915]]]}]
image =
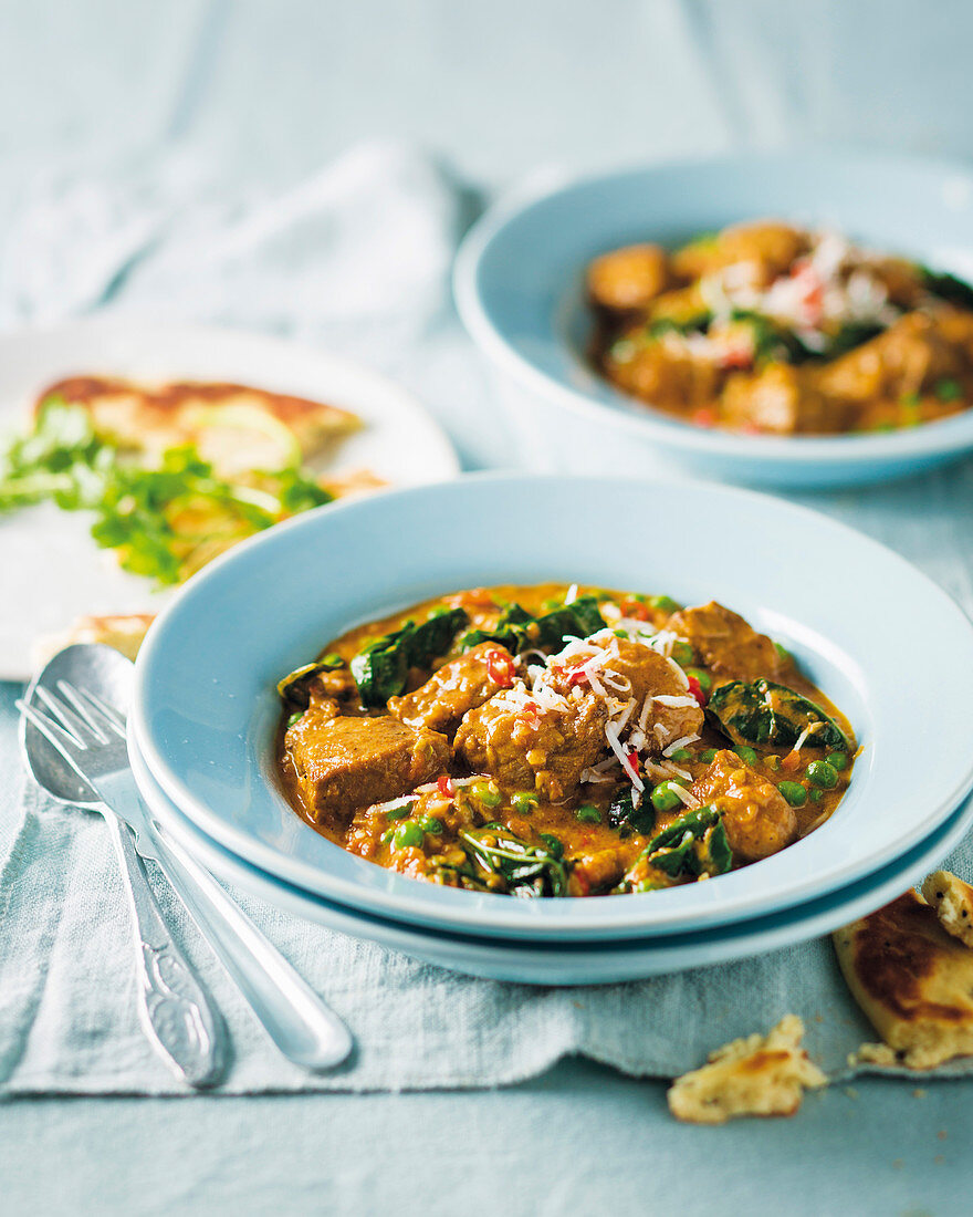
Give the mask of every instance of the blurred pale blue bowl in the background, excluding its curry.
[{"label": "blurred pale blue bowl in the background, excluding its curry", "polygon": [[519,458],[540,471],[645,475],[673,465],[753,486],[885,481],[973,449],[973,410],[894,433],[739,436],[680,422],[589,368],[584,270],[637,241],[677,245],[760,217],[828,225],[876,249],[973,276],[973,173],[958,164],[788,153],[628,169],[490,211],[456,260],[455,293],[499,374]]}]

